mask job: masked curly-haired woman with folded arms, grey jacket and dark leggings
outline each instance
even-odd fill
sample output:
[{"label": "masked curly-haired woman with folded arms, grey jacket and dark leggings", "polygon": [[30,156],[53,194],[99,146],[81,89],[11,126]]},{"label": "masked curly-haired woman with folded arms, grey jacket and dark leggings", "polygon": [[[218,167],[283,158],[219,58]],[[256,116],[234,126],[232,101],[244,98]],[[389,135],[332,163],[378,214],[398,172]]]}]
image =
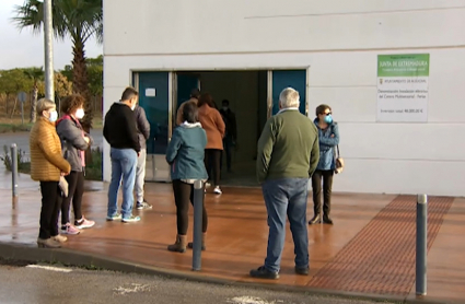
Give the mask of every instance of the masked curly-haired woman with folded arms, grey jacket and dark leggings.
[{"label": "masked curly-haired woman with folded arms, grey jacket and dark leggings", "polygon": [[[70,95],[61,102],[65,114],[57,121],[57,133],[61,140],[65,159],[71,165],[71,173],[65,178],[68,182],[68,197],[61,203],[61,233],[79,234],[81,229],[95,225],[82,214],[82,196],[84,195],[85,150],[92,144],[92,138],[84,132],[79,119],[84,117],[84,98]],[[74,211],[74,224],[70,222],[70,204]]]}]

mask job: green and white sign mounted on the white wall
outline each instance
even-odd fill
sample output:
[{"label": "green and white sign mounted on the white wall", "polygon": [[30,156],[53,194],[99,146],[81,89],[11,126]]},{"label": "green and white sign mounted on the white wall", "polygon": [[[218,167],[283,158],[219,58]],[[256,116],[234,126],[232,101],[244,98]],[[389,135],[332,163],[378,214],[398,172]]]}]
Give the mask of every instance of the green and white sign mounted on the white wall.
[{"label": "green and white sign mounted on the white wall", "polygon": [[376,121],[428,121],[429,54],[377,56]]}]

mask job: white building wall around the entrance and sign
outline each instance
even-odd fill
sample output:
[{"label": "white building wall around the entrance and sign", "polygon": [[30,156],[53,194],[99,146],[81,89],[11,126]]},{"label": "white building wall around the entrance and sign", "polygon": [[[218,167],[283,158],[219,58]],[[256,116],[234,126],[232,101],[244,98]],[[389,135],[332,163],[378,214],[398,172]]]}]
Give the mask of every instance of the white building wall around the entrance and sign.
[{"label": "white building wall around the entrance and sign", "polygon": [[[105,0],[105,109],[130,70],[310,67],[310,115],[328,103],[339,122],[336,191],[464,196],[465,0],[280,3]],[[377,55],[423,52],[428,122],[376,122]]]}]

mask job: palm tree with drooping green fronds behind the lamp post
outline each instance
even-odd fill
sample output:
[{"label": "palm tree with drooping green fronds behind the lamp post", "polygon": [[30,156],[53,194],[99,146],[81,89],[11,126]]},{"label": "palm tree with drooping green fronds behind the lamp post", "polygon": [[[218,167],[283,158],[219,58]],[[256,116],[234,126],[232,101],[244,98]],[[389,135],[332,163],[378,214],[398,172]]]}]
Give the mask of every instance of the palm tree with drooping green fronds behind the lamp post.
[{"label": "palm tree with drooping green fronds behind the lamp post", "polygon": [[[32,27],[40,33],[44,23],[42,0],[25,0],[14,8],[13,22],[22,30]],[[92,36],[103,40],[102,0],[53,0],[53,26],[55,37],[70,37],[72,47],[73,91],[85,98],[85,116],[82,121],[86,131],[92,128],[93,107],[89,91],[84,46]]]}]

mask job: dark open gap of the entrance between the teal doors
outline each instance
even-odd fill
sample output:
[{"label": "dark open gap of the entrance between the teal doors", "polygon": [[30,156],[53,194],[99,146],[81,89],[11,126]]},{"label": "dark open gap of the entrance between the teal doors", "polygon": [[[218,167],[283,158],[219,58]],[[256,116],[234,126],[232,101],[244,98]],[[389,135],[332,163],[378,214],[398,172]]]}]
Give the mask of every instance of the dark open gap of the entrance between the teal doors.
[{"label": "dark open gap of the entrance between the teal doors", "polygon": [[[268,115],[267,71],[200,71],[183,72],[177,78],[177,106],[186,101],[186,91],[198,79],[201,92],[213,96],[220,109],[223,100],[235,115],[237,140],[231,150],[232,172],[226,169],[225,152],[222,156],[221,185],[256,186],[255,160],[257,140]],[[184,98],[183,98],[183,97]]]}]

